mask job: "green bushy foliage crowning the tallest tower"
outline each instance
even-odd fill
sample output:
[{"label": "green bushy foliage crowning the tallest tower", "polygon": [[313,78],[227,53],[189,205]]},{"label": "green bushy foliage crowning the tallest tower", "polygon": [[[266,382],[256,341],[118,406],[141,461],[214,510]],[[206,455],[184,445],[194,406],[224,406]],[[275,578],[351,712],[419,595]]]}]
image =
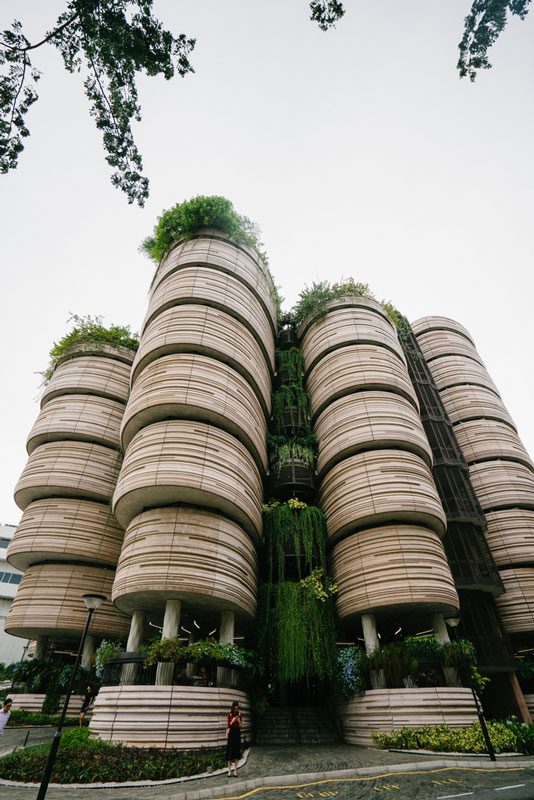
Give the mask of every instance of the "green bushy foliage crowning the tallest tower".
[{"label": "green bushy foliage crowning the tallest tower", "polygon": [[266,261],[258,226],[238,214],[230,200],[217,195],[198,195],[164,211],[158,217],[152,236],[144,240],[142,249],[153,261],[159,262],[174,242],[190,239],[204,228],[225,233],[237,244],[251,247]]}]

